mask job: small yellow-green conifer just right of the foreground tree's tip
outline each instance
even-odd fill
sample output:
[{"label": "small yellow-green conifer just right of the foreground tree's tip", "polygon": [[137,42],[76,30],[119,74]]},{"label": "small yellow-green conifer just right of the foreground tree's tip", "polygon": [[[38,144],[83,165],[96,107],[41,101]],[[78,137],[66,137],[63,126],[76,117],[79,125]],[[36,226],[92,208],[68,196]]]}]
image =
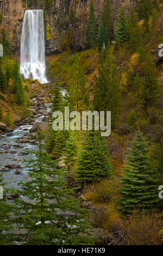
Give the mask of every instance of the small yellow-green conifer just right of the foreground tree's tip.
[{"label": "small yellow-green conifer just right of the foreground tree's tip", "polygon": [[78,142],[74,131],[70,132],[70,136],[67,139],[64,155],[66,156],[65,163],[68,170],[74,166],[78,153]]}]

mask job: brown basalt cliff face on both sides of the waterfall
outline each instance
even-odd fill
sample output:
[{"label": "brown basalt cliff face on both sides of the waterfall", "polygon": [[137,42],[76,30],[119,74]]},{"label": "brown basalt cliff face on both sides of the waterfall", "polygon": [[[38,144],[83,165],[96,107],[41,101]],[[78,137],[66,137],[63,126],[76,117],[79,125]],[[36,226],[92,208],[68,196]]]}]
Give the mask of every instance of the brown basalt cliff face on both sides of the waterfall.
[{"label": "brown basalt cliff face on both sides of the waterfall", "polygon": [[[76,50],[86,48],[85,29],[89,17],[89,5],[91,0],[52,0],[52,10],[45,9],[45,28],[46,28],[46,53],[58,53],[63,51],[63,42],[66,31],[74,34],[73,47]],[[99,23],[105,0],[95,0],[97,21]],[[117,17],[121,6],[124,6],[126,13],[134,0],[111,0],[114,13],[114,27],[117,25]],[[76,24],[72,28],[68,22],[71,5],[76,14]],[[35,6],[32,9],[39,9]],[[2,21],[0,29],[4,27],[8,33],[13,50],[20,47],[21,28],[23,15],[26,8],[23,7],[22,0],[0,0],[0,13]]]}]

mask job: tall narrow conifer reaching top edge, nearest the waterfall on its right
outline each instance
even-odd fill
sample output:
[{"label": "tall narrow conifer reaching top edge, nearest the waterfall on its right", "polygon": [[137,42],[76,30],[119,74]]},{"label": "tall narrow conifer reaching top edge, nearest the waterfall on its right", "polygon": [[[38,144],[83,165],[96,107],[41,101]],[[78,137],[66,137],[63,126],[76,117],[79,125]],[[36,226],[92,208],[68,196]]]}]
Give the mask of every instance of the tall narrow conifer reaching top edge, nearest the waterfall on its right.
[{"label": "tall narrow conifer reaching top edge, nearest the waterfall on its right", "polygon": [[98,33],[98,26],[97,26],[96,15],[95,15],[95,7],[93,4],[93,0],[91,0],[89,20],[86,28],[86,41],[87,41],[87,46],[89,48],[91,47],[95,48],[97,46],[97,33]]}]

